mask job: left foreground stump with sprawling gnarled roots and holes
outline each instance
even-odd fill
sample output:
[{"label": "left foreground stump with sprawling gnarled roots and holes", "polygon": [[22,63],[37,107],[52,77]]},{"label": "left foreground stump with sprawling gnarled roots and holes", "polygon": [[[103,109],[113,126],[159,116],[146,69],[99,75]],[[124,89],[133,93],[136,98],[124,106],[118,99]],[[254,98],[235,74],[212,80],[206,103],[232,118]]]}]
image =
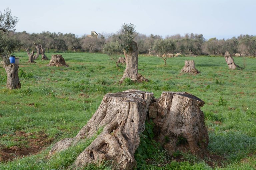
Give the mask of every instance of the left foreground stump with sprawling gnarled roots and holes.
[{"label": "left foreground stump with sprawling gnarled roots and holes", "polygon": [[89,162],[114,160],[116,169],[132,169],[136,165],[134,152],[139,146],[144,130],[148,106],[153,93],[127,90],[121,93],[108,93],[98,110],[75,138],[63,139],[50,151],[66,149],[79,139],[92,137],[100,127],[101,134],[77,157],[73,163],[81,167]]}]

